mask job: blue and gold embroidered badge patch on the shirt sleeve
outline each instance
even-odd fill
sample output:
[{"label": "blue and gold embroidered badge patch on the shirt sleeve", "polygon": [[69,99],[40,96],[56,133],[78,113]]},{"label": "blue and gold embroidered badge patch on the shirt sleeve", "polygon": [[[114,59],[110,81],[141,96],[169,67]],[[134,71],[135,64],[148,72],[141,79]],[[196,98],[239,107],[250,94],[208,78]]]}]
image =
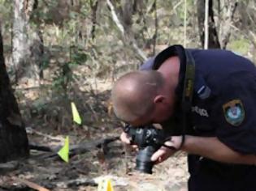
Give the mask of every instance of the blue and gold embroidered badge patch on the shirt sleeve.
[{"label": "blue and gold embroidered badge patch on the shirt sleeve", "polygon": [[238,126],[245,119],[245,109],[241,100],[231,100],[227,104],[223,104],[223,112],[229,124]]}]

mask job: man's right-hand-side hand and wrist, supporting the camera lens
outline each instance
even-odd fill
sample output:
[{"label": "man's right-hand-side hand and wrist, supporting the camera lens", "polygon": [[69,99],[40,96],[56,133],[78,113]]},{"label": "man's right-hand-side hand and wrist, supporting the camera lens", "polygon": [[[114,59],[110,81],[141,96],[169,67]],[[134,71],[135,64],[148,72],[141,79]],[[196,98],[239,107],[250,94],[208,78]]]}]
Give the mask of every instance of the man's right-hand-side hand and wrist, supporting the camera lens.
[{"label": "man's right-hand-side hand and wrist, supporting the camera lens", "polygon": [[[165,142],[166,146],[172,146],[176,149],[180,148],[180,144],[182,142],[181,136],[173,136],[170,141]],[[155,161],[155,163],[162,163],[164,160],[168,159],[171,155],[175,154],[177,150],[172,150],[167,148],[166,146],[161,146],[158,151],[156,151],[152,156],[151,160]]]}]

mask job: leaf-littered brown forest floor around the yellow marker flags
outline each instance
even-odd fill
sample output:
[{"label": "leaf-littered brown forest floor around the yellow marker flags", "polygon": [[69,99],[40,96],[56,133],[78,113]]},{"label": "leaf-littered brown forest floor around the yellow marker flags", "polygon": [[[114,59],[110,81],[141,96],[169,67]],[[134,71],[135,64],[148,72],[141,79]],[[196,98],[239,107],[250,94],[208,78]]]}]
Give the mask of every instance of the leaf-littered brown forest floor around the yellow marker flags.
[{"label": "leaf-littered brown forest floor around the yellow marker flags", "polygon": [[[16,162],[11,172],[0,176],[0,190],[35,190],[29,189],[31,182],[56,191],[98,190],[98,182],[106,177],[111,179],[115,191],[187,190],[184,153],[177,153],[164,163],[155,165],[154,173],[148,175],[134,170],[136,151],[130,151],[118,139],[102,142],[106,138],[119,137],[121,124],[113,117],[108,101],[111,83],[101,81],[97,87],[100,91],[79,88],[76,96],[69,96],[64,101],[58,92],[49,94],[48,91],[42,93],[42,90],[34,89],[15,92],[30,144],[48,146],[54,151],[31,150],[28,159]],[[58,99],[54,100],[54,97]],[[72,122],[71,100],[80,111],[83,125]],[[84,148],[71,155],[69,163],[54,155],[66,136],[69,137],[70,148],[77,145]],[[30,185],[24,180],[28,180]]]}]

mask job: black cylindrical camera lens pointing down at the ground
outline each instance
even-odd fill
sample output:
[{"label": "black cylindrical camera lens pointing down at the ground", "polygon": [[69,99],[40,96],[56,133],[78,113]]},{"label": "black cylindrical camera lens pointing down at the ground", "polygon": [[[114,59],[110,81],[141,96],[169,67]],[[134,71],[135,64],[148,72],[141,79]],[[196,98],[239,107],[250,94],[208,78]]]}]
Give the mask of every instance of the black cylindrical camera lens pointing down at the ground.
[{"label": "black cylindrical camera lens pointing down at the ground", "polygon": [[138,151],[136,159],[136,170],[148,174],[152,174],[154,162],[151,161],[151,156],[156,149],[153,146],[146,146],[144,149]]}]

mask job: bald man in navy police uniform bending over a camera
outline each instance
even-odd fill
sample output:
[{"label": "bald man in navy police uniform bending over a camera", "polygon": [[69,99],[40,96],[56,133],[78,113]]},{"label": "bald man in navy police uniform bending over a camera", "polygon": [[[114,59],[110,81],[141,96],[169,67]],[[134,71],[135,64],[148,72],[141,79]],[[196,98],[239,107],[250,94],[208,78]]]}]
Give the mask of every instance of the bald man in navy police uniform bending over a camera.
[{"label": "bald man in navy police uniform bending over a camera", "polygon": [[[116,116],[133,126],[159,123],[179,132],[187,53],[195,62],[195,78],[186,135],[184,144],[182,136],[172,136],[167,145],[189,153],[189,191],[256,190],[256,69],[245,57],[168,47],[142,71],[115,83]],[[127,134],[121,139],[129,143]],[[161,147],[151,159],[163,162],[175,152]]]}]

